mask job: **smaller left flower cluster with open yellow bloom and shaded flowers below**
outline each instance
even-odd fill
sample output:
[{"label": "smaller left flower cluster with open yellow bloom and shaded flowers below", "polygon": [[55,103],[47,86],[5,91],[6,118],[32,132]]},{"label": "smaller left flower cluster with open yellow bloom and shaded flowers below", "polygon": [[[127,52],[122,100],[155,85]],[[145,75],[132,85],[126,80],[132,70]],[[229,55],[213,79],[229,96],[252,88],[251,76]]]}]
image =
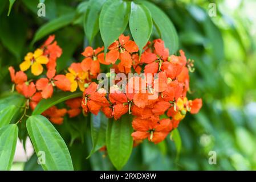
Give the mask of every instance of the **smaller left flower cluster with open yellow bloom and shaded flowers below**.
[{"label": "smaller left flower cluster with open yellow bloom and shaded flowers below", "polygon": [[[78,72],[78,66],[72,64],[66,75],[56,74],[56,62],[62,55],[62,49],[58,46],[54,40],[55,36],[51,35],[34,52],[29,52],[24,58],[24,61],[19,65],[20,71],[15,72],[13,67],[9,67],[11,81],[14,83],[14,87],[18,93],[23,94],[26,97],[26,110],[34,110],[40,100],[52,97],[54,88],[74,92],[76,87],[74,81],[72,81],[70,74],[75,75]],[[45,68],[44,68],[45,67]],[[31,68],[32,75],[36,76],[28,80],[26,71]],[[46,70],[44,72],[44,70]],[[83,75],[83,78],[87,78],[84,75],[88,75],[87,72],[79,72],[79,76]],[[78,81],[78,79],[76,79]],[[80,80],[79,80],[80,81]],[[84,80],[83,80],[84,81]],[[83,89],[81,89],[83,91]],[[72,101],[67,101],[66,104],[70,108],[58,109],[56,106],[50,107],[44,111],[42,115],[50,119],[51,122],[61,124],[63,122],[63,116],[68,113],[70,117],[75,117],[81,112],[81,100],[82,98],[75,98]]]}]

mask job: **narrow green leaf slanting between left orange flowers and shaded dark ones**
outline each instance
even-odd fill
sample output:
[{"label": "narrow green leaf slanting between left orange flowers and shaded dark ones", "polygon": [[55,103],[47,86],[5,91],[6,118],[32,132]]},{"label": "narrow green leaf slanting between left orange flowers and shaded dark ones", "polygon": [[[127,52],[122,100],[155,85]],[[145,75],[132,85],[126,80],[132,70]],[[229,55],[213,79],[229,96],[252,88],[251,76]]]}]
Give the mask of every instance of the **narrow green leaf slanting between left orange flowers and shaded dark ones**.
[{"label": "narrow green leaf slanting between left orange flowers and shaded dark ones", "polygon": [[51,98],[41,100],[35,107],[32,115],[41,114],[43,111],[47,110],[51,106],[59,104],[60,102],[69,100],[71,98],[82,97],[82,92],[70,93],[70,92],[59,92],[52,96]]}]

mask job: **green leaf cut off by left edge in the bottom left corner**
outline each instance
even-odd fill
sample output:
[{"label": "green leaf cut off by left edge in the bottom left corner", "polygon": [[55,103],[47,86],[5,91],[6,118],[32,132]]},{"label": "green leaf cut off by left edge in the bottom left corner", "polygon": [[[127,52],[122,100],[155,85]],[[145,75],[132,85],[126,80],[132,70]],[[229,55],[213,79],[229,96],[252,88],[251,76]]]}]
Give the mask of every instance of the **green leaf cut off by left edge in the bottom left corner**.
[{"label": "green leaf cut off by left edge in the bottom left corner", "polygon": [[17,125],[7,125],[0,129],[0,170],[11,169],[18,139]]}]

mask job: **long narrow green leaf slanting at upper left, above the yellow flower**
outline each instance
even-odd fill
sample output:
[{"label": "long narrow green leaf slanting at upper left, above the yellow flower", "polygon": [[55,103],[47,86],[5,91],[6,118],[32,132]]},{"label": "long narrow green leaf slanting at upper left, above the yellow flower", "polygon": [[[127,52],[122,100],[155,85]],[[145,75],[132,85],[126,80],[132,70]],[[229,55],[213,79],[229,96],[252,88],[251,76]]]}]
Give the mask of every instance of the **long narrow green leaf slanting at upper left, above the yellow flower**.
[{"label": "long narrow green leaf slanting at upper left, above the yellow flower", "polygon": [[51,34],[52,32],[67,26],[72,22],[75,17],[75,13],[69,13],[66,15],[59,16],[58,18],[52,19],[50,22],[47,22],[42,27],[36,31],[34,39],[32,40],[31,44],[34,44],[39,39],[42,39],[44,36]]}]

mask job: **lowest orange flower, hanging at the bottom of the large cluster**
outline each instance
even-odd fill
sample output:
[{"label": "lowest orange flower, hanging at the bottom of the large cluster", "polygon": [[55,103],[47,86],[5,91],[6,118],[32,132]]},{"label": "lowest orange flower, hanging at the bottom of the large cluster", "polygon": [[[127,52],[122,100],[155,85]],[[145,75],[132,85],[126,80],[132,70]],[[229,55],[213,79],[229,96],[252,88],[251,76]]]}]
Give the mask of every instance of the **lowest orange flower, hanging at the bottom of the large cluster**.
[{"label": "lowest orange flower, hanging at the bottom of the large cluster", "polygon": [[134,140],[148,138],[149,141],[159,143],[166,138],[172,130],[170,119],[161,119],[159,122],[136,118],[132,122],[136,131],[132,133]]}]

